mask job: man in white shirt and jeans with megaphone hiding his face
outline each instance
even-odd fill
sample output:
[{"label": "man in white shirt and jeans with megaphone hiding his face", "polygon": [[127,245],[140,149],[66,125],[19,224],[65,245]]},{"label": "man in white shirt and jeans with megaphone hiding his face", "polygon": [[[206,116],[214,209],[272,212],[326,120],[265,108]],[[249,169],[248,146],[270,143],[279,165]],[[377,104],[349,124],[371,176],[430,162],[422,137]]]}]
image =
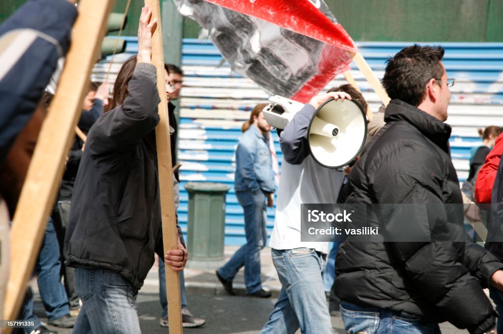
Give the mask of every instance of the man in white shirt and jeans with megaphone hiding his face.
[{"label": "man in white shirt and jeans with megaphone hiding his face", "polygon": [[[286,120],[284,122],[286,127],[280,135],[283,161],[274,229],[270,240],[273,263],[282,289],[275,309],[261,333],[293,333],[299,327],[302,333],[309,334],[326,334],[333,331],[322,279],[329,243],[301,242],[301,204],[337,202],[344,173],[340,168],[334,167],[341,162],[336,162],[329,168],[320,162],[322,155],[318,155],[319,159],[314,157],[315,154],[311,153],[313,148],[310,144],[313,143],[309,140],[311,135],[309,128],[312,127],[313,120],[318,121],[315,117],[317,114],[326,112],[326,110],[320,110],[322,108],[319,107],[322,104],[334,99],[339,103],[345,99],[351,100],[352,97],[354,96],[343,91],[329,92],[313,97],[308,104],[300,106],[300,110],[291,115],[285,115],[288,113],[281,108],[273,110],[276,115],[270,115],[273,118],[276,117],[278,124]],[[297,103],[291,102],[291,104]],[[361,115],[361,107],[357,106],[357,108],[358,112],[352,115]],[[333,110],[329,110],[331,111]],[[349,114],[351,113],[346,113],[346,115]],[[353,119],[357,118],[353,117]],[[362,121],[356,121],[356,123],[362,129],[363,136],[358,139],[361,141],[358,147],[363,146],[366,129],[364,113],[360,118]],[[346,132],[346,130],[351,127],[343,124],[342,119],[338,121],[341,121],[338,122],[340,125],[338,134],[349,135],[351,131]],[[335,137],[338,134],[334,138],[329,138],[336,126],[328,124],[327,127],[331,127],[329,131],[322,129],[323,126],[320,127],[320,132],[326,132],[326,134],[316,136],[326,135],[326,143],[332,143],[332,141],[336,143]],[[330,144],[327,144],[326,148],[332,150],[333,148],[329,146]],[[351,156],[354,158],[358,150],[353,151]],[[337,157],[337,152],[331,155]]]}]

